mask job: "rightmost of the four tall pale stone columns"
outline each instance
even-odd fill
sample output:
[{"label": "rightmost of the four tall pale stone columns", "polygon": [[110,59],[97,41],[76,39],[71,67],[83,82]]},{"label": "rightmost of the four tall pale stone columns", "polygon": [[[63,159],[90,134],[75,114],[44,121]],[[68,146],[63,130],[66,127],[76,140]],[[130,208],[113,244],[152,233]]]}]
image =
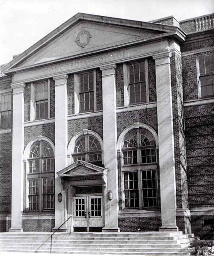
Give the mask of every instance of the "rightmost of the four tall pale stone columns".
[{"label": "rightmost of the four tall pale stone columns", "polygon": [[178,231],[176,225],[176,183],[171,96],[170,51],[155,54],[158,143],[161,186],[160,231]]}]

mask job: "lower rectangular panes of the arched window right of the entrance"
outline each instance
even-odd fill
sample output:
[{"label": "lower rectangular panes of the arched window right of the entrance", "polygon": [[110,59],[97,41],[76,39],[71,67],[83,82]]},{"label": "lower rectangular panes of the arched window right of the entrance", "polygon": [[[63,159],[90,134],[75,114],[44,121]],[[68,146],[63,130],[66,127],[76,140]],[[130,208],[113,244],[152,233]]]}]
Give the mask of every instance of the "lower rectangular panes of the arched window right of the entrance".
[{"label": "lower rectangular panes of the arched window right of the entrance", "polygon": [[125,208],[157,206],[156,170],[124,172],[123,175]]}]

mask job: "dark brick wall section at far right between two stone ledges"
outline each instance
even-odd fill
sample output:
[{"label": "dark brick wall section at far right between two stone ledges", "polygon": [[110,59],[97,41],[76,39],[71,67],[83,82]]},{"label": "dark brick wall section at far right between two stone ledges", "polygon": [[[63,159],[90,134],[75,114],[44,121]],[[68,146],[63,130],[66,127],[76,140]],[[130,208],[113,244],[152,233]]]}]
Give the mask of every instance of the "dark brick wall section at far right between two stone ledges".
[{"label": "dark brick wall section at far right between two stone ledges", "polygon": [[214,206],[214,104],[185,107],[190,207]]}]

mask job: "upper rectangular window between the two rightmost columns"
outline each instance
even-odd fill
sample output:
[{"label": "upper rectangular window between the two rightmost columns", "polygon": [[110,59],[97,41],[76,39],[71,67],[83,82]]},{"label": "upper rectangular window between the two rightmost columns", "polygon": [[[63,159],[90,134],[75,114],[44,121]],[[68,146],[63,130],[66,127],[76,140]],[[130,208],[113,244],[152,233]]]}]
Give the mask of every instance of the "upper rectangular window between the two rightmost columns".
[{"label": "upper rectangular window between the two rightmost columns", "polygon": [[146,78],[144,62],[129,65],[130,104],[146,103]]}]

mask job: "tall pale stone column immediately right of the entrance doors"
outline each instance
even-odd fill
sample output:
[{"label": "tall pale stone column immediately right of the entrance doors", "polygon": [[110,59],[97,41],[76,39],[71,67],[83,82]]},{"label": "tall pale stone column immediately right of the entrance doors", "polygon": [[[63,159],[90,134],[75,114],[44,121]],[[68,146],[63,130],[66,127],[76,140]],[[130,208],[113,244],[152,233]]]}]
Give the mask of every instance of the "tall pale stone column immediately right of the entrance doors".
[{"label": "tall pale stone column immediately right of the entrance doors", "polygon": [[[103,160],[107,175],[105,196],[105,227],[103,232],[118,232],[118,174],[117,174],[117,116],[116,116],[116,65],[103,65]],[[112,191],[113,199],[108,200],[108,191]]]}]

